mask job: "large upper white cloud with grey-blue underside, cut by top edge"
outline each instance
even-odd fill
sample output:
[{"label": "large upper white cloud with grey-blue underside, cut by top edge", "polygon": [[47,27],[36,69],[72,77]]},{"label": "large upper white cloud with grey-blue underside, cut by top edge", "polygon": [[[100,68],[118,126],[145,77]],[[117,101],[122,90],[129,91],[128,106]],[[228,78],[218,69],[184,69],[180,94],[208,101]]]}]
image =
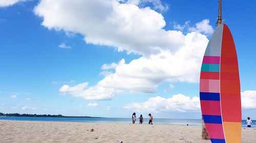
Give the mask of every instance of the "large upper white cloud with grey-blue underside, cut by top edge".
[{"label": "large upper white cloud with grey-blue underside, cut by top edge", "polygon": [[184,45],[185,35],[163,30],[164,17],[149,7],[115,0],[42,0],[34,12],[43,17],[42,25],[49,29],[79,33],[87,43],[116,47],[118,51],[149,55],[161,50],[175,52]]}]

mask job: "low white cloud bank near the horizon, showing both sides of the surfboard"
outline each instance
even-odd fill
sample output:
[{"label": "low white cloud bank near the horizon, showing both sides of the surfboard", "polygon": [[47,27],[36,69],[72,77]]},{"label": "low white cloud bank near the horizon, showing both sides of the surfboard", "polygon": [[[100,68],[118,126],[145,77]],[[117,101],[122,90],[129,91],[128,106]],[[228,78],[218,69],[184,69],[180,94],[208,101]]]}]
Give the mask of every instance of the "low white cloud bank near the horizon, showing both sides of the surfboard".
[{"label": "low white cloud bank near the horizon, showing both sides of the surfboard", "polygon": [[[242,109],[256,108],[256,91],[241,92]],[[145,102],[131,103],[123,108],[141,111],[141,112],[163,112],[163,111],[179,111],[179,112],[197,112],[201,111],[200,98],[195,96],[190,98],[183,94],[174,95],[171,98],[163,98],[160,96],[149,98]]]}]

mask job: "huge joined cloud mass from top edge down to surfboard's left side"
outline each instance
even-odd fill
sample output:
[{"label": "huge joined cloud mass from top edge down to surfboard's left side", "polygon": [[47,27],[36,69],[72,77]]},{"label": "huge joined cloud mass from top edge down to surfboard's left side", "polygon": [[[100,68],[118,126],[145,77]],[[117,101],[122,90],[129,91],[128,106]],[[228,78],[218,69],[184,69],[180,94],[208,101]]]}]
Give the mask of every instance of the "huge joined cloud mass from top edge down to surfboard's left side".
[{"label": "huge joined cloud mass from top edge down to surfboard's left side", "polygon": [[[143,7],[143,3],[153,7]],[[161,6],[167,8],[161,1],[150,0],[41,0],[34,13],[43,18],[41,24],[49,30],[79,33],[86,43],[141,55],[130,63],[122,59],[104,64],[104,78],[90,88],[63,85],[60,92],[88,100],[106,100],[125,90],[154,93],[166,81],[198,82],[208,42],[206,35],[213,28],[206,19],[189,27],[187,34],[164,30],[164,17],[156,11]]]}]

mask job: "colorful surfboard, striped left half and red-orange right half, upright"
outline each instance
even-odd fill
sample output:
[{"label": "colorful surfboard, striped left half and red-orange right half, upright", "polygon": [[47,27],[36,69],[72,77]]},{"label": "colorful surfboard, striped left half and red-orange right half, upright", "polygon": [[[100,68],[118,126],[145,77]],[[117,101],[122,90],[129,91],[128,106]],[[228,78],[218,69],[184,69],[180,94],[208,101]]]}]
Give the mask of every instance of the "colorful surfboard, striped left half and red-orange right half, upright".
[{"label": "colorful surfboard, striped left half and red-orange right half, upright", "polygon": [[238,59],[226,24],[217,27],[205,50],[200,102],[212,143],[241,142],[241,95]]}]

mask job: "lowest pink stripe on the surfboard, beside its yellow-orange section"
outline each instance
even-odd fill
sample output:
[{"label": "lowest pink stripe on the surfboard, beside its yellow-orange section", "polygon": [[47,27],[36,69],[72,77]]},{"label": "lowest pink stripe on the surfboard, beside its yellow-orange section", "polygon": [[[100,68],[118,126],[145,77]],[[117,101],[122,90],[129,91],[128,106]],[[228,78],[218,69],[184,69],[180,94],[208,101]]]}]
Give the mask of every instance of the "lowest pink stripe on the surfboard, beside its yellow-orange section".
[{"label": "lowest pink stripe on the surfboard, beside its yellow-orange section", "polygon": [[205,123],[205,127],[210,138],[224,139],[222,124]]}]

